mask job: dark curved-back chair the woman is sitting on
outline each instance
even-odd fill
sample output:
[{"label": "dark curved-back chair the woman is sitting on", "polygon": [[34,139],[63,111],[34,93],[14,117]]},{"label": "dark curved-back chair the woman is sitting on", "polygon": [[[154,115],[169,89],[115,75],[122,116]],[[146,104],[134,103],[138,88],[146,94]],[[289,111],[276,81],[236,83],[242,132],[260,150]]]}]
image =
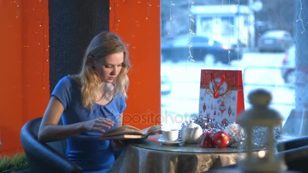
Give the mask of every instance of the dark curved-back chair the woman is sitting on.
[{"label": "dark curved-back chair the woman is sitting on", "polygon": [[37,139],[42,117],[26,122],[20,140],[28,161],[28,172],[83,172],[65,157],[66,140],[42,143]]}]

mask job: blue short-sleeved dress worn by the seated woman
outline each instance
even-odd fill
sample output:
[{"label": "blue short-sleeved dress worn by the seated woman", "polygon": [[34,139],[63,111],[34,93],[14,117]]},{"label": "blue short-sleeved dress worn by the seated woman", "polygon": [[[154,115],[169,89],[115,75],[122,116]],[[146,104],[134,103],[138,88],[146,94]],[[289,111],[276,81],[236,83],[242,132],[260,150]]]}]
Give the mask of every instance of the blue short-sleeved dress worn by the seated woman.
[{"label": "blue short-sleeved dress worn by the seated woman", "polygon": [[[125,98],[115,94],[107,105],[94,103],[92,111],[86,109],[81,102],[81,90],[74,79],[63,77],[56,85],[51,96],[55,96],[64,106],[61,119],[63,125],[88,121],[98,117],[108,117],[114,125],[119,124],[119,114],[126,108]],[[104,172],[114,162],[109,140],[98,140],[102,133],[98,131],[83,132],[67,139],[66,157],[86,171]],[[101,170],[101,171],[97,171]]]}]

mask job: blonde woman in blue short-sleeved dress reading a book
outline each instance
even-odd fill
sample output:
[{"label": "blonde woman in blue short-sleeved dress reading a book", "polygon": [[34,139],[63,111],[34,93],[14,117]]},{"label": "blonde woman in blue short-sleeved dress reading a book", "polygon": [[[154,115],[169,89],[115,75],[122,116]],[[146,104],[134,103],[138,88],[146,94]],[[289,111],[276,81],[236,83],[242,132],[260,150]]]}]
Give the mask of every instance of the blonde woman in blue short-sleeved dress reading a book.
[{"label": "blonde woman in blue short-sleeved dress reading a book", "polygon": [[[105,172],[114,162],[110,142],[98,137],[122,125],[129,85],[128,52],[114,33],[96,35],[79,74],[63,77],[51,94],[38,140],[67,139],[66,157],[84,172]],[[62,117],[62,124],[57,125]]]}]

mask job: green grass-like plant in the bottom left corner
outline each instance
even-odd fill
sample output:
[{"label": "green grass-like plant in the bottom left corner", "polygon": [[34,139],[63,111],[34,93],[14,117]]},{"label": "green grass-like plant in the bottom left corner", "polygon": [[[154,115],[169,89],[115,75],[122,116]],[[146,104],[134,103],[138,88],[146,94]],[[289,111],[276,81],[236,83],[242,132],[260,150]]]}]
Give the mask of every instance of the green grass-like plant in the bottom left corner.
[{"label": "green grass-like plant in the bottom left corner", "polygon": [[10,170],[24,170],[28,168],[28,162],[24,153],[0,156],[0,172]]}]

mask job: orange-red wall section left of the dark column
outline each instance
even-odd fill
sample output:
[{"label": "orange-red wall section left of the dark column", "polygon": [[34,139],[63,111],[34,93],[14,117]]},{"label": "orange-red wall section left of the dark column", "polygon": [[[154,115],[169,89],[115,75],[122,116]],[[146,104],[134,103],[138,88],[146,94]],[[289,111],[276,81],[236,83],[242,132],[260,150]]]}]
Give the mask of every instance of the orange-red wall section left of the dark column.
[{"label": "orange-red wall section left of the dark column", "polygon": [[20,129],[49,100],[48,1],[0,2],[0,153],[22,150]]}]

